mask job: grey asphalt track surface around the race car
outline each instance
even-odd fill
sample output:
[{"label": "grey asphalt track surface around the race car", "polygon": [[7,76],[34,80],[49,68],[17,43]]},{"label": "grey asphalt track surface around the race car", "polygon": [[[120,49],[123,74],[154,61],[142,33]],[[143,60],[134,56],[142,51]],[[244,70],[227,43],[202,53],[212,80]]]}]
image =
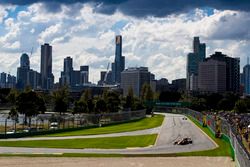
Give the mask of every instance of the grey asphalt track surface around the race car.
[{"label": "grey asphalt track surface around the race car", "polygon": [[[57,149],[57,148],[24,148],[24,147],[0,147],[1,154],[60,154],[60,153],[103,153],[103,154],[164,154],[209,150],[217,147],[202,130],[200,130],[189,119],[183,120],[185,116],[178,114],[164,114],[165,119],[159,128],[148,130],[91,135],[91,136],[70,136],[70,137],[39,137],[39,138],[22,138],[22,139],[7,139],[13,140],[55,140],[55,139],[74,139],[74,138],[98,138],[98,137],[117,137],[131,136],[143,134],[158,133],[155,145],[145,148],[127,148],[127,149]],[[174,145],[173,142],[183,137],[190,137],[193,144],[189,145]]]}]

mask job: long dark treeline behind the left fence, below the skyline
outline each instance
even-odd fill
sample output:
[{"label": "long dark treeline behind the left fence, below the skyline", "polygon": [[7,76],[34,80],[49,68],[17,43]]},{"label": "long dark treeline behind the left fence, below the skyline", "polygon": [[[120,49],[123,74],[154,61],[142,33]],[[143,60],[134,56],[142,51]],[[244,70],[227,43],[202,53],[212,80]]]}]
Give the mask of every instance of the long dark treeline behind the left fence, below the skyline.
[{"label": "long dark treeline behind the left fence, below the skyline", "polygon": [[[104,90],[100,95],[92,95],[91,89],[85,90],[79,99],[70,96],[67,86],[61,87],[50,94],[36,92],[30,88],[24,91],[16,89],[0,89],[1,104],[11,104],[9,119],[17,120],[18,114],[24,114],[31,122],[31,117],[44,113],[49,107],[51,111],[64,114],[100,114],[119,111],[141,110],[152,108],[145,105],[146,100],[153,100],[154,93],[149,85],[144,85],[140,97],[134,96],[130,88],[128,95],[123,97],[112,90]],[[25,120],[26,122],[26,120]]]}]

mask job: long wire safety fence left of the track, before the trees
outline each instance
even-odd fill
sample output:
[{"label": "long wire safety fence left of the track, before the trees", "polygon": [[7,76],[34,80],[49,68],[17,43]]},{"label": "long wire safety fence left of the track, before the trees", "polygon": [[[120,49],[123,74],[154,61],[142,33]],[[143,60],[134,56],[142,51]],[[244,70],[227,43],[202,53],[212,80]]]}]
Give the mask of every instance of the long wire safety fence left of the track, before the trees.
[{"label": "long wire safety fence left of the track, before the trees", "polygon": [[[0,138],[22,136],[23,133],[57,132],[64,129],[99,127],[144,118],[146,110],[123,111],[104,114],[39,114],[36,117],[25,118],[19,115],[16,119],[0,114]],[[19,135],[16,135],[19,134]]]}]

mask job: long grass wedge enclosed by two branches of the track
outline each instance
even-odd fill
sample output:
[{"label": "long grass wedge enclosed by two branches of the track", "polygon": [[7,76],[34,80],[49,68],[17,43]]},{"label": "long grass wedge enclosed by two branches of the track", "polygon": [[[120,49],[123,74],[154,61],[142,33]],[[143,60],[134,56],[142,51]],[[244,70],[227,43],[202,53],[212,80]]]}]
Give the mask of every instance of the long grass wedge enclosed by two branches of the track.
[{"label": "long grass wedge enclosed by two branches of the track", "polygon": [[0,146],[68,149],[123,149],[127,147],[146,147],[149,145],[153,145],[156,138],[157,134],[90,139],[0,141]]}]

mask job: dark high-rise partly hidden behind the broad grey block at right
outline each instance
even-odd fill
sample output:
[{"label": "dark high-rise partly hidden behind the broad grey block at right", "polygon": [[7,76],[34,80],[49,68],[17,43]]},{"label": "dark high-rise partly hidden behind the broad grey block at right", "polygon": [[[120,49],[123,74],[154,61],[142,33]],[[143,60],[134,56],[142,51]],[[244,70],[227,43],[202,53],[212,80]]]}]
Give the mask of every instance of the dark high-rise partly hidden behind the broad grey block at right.
[{"label": "dark high-rise partly hidden behind the broad grey block at right", "polygon": [[215,52],[210,58],[226,63],[226,91],[239,93],[240,90],[240,59],[228,57],[221,52]]}]

